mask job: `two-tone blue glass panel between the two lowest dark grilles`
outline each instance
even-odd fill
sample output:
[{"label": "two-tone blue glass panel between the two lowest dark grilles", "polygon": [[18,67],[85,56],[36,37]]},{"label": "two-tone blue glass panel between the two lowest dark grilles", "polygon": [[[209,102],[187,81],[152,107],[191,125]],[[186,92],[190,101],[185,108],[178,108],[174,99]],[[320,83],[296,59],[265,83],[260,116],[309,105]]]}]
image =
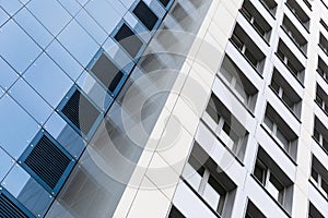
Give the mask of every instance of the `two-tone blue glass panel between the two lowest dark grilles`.
[{"label": "two-tone blue glass panel between the two lowest dark grilles", "polygon": [[43,217],[54,198],[21,166],[15,165],[2,185],[35,216]]}]

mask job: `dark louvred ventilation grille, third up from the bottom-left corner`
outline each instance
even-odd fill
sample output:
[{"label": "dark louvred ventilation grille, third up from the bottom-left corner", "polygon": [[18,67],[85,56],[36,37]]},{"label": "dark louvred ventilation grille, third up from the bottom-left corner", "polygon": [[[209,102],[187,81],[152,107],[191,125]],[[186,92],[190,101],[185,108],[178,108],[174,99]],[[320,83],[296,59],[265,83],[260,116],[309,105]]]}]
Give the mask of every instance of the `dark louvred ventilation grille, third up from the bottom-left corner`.
[{"label": "dark louvred ventilation grille, third up from the bottom-left corner", "polygon": [[77,89],[61,112],[87,135],[101,112]]}]

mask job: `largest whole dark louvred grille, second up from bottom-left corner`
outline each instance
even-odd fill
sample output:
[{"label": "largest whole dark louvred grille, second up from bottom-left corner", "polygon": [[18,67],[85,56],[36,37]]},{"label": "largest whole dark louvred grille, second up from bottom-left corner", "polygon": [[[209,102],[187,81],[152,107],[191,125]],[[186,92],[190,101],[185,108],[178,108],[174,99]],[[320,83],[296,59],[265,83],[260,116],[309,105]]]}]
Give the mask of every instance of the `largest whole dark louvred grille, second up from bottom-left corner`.
[{"label": "largest whole dark louvred grille, second up from bottom-left corner", "polygon": [[24,164],[54,190],[70,161],[46,135],[43,135]]}]

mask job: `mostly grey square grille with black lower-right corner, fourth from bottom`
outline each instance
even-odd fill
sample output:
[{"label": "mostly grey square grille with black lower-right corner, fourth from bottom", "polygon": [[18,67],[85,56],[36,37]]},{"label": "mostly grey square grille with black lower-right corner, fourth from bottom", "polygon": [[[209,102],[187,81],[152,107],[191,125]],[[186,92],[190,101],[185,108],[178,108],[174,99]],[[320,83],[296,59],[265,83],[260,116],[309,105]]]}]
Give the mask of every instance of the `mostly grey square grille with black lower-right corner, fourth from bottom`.
[{"label": "mostly grey square grille with black lower-right corner, fourth from bottom", "polygon": [[114,93],[124,76],[124,73],[104,53],[91,71],[112,93]]}]

